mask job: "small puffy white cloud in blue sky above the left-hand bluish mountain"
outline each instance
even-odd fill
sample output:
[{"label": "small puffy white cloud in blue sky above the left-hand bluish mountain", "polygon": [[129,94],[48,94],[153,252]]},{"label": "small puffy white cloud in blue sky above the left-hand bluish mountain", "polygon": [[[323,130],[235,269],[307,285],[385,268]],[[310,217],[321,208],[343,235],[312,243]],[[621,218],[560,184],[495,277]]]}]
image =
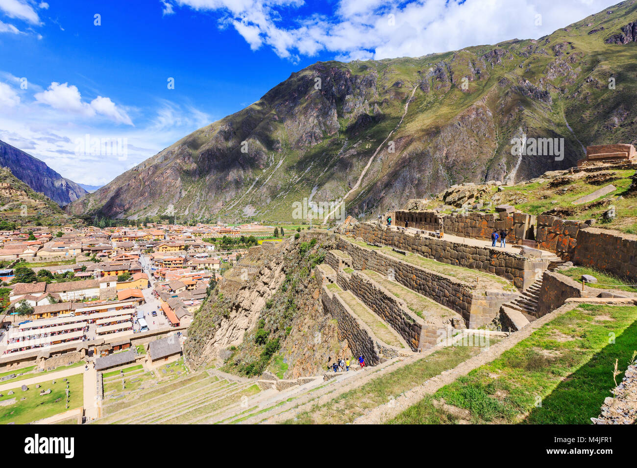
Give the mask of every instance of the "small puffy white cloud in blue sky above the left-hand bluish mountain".
[{"label": "small puffy white cloud in blue sky above the left-hand bluish mountain", "polygon": [[38,103],[47,104],[54,109],[94,117],[96,114],[110,118],[113,122],[132,125],[131,118],[127,113],[118,108],[110,97],[97,96],[90,103],[82,101],[80,90],[75,85],[69,83],[51,83],[46,91],[38,92],[33,96]]}]

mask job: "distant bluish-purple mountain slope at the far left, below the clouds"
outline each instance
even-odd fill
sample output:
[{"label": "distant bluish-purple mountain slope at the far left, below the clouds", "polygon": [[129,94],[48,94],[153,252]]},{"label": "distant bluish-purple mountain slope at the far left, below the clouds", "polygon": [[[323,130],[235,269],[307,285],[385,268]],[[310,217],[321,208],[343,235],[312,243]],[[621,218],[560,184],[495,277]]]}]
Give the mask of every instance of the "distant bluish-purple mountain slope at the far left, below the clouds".
[{"label": "distant bluish-purple mountain slope at the far left, below the clouds", "polygon": [[20,180],[41,192],[60,206],[77,200],[88,192],[77,183],[65,179],[41,160],[0,141],[0,166],[8,167]]}]

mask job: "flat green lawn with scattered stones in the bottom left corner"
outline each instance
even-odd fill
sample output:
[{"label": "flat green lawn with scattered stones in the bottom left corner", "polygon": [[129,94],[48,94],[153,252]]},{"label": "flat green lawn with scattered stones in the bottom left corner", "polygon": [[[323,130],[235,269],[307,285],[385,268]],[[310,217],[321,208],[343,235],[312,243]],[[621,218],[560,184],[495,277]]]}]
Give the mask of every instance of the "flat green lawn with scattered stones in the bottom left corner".
[{"label": "flat green lawn with scattered stones in the bottom left corner", "polygon": [[[69,376],[69,392],[70,399],[69,408],[66,408],[66,382],[62,379],[57,379],[55,384],[52,381],[41,382],[40,388],[36,388],[36,385],[29,385],[29,390],[22,392],[20,386],[13,389],[15,392],[13,395],[7,395],[6,392],[3,397],[0,397],[0,401],[10,400],[16,398],[15,404],[10,406],[0,406],[0,424],[7,424],[15,422],[16,424],[26,424],[32,421],[41,420],[54,416],[59,413],[64,413],[68,409],[79,408],[83,405],[83,374],[76,374]],[[39,396],[39,392],[50,388],[52,392],[48,395]],[[26,397],[24,401],[20,401],[21,398]],[[60,399],[59,402],[55,400]]]}]

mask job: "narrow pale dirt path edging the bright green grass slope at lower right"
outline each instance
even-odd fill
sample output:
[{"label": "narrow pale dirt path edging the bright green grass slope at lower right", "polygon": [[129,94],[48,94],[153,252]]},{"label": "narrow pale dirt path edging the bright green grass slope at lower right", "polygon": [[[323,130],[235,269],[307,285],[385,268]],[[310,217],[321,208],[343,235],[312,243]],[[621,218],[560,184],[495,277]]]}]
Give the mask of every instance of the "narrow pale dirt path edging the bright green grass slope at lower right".
[{"label": "narrow pale dirt path edging the bright green grass slope at lower right", "polygon": [[383,422],[394,418],[410,406],[417,404],[426,395],[434,394],[440,388],[452,383],[457,378],[465,376],[469,372],[473,371],[473,369],[498,358],[502,353],[513,348],[515,344],[520,343],[523,339],[531,336],[535,330],[539,329],[545,323],[550,322],[554,318],[576,308],[577,306],[578,304],[565,304],[561,308],[538,318],[538,320],[530,323],[519,332],[515,332],[498,343],[489,346],[489,348],[485,348],[485,351],[462,362],[454,367],[454,369],[444,371],[438,376],[425,381],[422,385],[412,388],[412,390],[408,390],[408,392],[397,397],[394,401],[378,406],[378,408],[369,411],[366,415],[359,416],[359,418],[356,418],[353,423],[382,424]]}]

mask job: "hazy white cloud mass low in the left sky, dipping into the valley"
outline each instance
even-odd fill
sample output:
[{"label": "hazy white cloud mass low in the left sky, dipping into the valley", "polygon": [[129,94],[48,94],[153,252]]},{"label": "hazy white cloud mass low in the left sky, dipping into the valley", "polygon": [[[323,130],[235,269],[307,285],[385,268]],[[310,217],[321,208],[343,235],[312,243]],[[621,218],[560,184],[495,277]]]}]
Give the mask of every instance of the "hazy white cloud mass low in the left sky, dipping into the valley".
[{"label": "hazy white cloud mass low in the left sky, dipping into the valley", "polygon": [[[29,83],[21,91],[17,76],[0,71],[0,80],[0,139],[43,160],[62,176],[89,185],[110,182],[215,120],[190,104],[161,100],[143,113],[127,107],[140,115],[138,124],[132,125],[122,106],[103,96],[85,103],[77,87],[68,83],[51,83],[47,90]],[[90,113],[93,117],[87,118]],[[76,142],[87,134],[113,141],[127,139],[127,158],[76,154]]]}]

